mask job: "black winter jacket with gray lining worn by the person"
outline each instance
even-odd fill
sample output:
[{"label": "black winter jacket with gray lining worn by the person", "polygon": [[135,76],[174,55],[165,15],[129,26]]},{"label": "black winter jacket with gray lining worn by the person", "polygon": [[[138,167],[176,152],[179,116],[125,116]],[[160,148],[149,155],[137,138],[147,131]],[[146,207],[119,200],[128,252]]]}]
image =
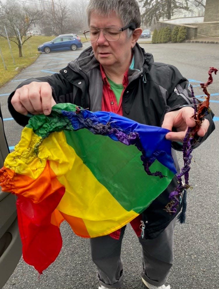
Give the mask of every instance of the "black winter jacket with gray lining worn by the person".
[{"label": "black winter jacket with gray lining worn by the person", "polygon": [[[144,49],[140,48],[138,44],[135,45],[133,54],[135,57],[134,69],[129,69],[129,83],[122,98],[123,115],[125,117],[142,124],[161,126],[166,112],[182,108],[185,105],[193,105],[191,93],[187,89],[188,81],[177,68],[164,63],[155,63],[152,54],[145,53]],[[101,110],[103,82],[99,63],[95,59],[91,47],[84,50],[66,68],[60,70],[60,73],[28,79],[17,88],[32,81],[48,82],[52,87],[53,98],[56,103],[68,102],[88,108],[91,111]],[[13,94],[14,92],[8,98],[8,108],[15,121],[25,126],[29,117],[23,116],[14,110],[11,105]],[[206,118],[210,122],[208,132],[203,138],[197,140],[196,146],[214,130],[213,113],[210,113]],[[177,150],[181,150],[178,143],[173,143],[172,146]],[[176,169],[179,171],[174,150],[173,158]],[[142,213],[146,238],[156,238],[177,215],[171,215],[164,210],[169,202],[169,193],[177,185],[175,176],[166,190]],[[181,205],[178,212],[180,209]]]}]

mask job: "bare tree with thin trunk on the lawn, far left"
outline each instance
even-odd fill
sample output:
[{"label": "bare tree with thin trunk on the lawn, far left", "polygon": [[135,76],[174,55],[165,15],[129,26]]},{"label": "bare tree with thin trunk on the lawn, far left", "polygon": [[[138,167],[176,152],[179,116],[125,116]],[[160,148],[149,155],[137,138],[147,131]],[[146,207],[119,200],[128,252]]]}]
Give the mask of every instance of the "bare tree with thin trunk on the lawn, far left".
[{"label": "bare tree with thin trunk on the lawn, far left", "polygon": [[[8,38],[18,45],[20,57],[22,45],[31,37],[26,33],[31,23],[39,19],[40,15],[39,10],[30,8],[25,2],[21,5],[12,0],[6,3],[0,0],[0,23],[6,27]],[[0,36],[7,38],[3,29],[0,30]]]}]

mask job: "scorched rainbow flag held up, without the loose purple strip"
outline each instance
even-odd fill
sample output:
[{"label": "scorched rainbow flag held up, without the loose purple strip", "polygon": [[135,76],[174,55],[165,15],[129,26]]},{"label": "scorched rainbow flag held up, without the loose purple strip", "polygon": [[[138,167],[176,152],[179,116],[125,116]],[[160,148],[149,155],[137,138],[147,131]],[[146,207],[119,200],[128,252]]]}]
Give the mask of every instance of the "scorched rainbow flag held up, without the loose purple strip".
[{"label": "scorched rainbow flag held up, without the loose purple strip", "polygon": [[63,220],[92,238],[145,210],[176,173],[167,132],[69,103],[31,117],[0,170],[2,190],[18,196],[24,260],[39,273],[55,260]]}]

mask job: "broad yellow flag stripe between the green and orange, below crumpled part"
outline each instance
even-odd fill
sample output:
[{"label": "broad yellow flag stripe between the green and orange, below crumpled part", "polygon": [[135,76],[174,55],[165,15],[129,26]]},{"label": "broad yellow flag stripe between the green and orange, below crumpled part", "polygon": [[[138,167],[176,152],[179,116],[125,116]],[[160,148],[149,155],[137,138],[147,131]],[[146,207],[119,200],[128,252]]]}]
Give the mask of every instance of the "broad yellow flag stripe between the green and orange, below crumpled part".
[{"label": "broad yellow flag stripe between the green and orange, below crumpled part", "polygon": [[[39,152],[39,157],[45,157],[43,154],[48,150],[46,155],[50,167],[65,186],[65,194],[57,209],[69,216],[83,219],[90,236],[113,232],[121,224],[125,225],[138,216],[134,211],[127,212],[95,178],[74,149],[67,144],[63,132],[50,134],[44,139],[42,147],[44,150],[43,153]],[[70,225],[74,230],[74,224]]]}]

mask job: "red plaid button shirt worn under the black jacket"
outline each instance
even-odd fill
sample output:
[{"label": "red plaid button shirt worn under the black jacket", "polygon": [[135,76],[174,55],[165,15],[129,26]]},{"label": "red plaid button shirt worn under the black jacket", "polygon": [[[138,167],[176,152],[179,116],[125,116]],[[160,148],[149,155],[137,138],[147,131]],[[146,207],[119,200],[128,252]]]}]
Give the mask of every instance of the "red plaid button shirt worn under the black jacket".
[{"label": "red plaid button shirt worn under the black jacket", "polygon": [[[101,110],[111,111],[113,113],[117,113],[118,115],[122,115],[122,96],[123,96],[124,90],[126,89],[126,86],[128,85],[128,69],[124,73],[124,77],[123,77],[123,81],[122,81],[124,88],[123,88],[123,91],[121,93],[119,104],[117,104],[117,100],[116,100],[116,97],[114,95],[114,92],[110,88],[110,84],[107,80],[107,77],[105,75],[105,72],[104,72],[102,65],[100,65],[100,72],[101,72],[101,76],[102,76],[102,80],[103,80],[103,96],[102,96]],[[141,219],[142,219],[142,216],[140,214],[138,217],[136,217],[135,219],[133,219],[130,222],[133,230],[135,231],[135,233],[137,234],[138,237],[141,236],[141,229],[139,228],[139,226],[141,224],[140,223]],[[120,233],[121,233],[121,229],[118,229],[117,231],[114,231],[113,233],[109,234],[109,236],[118,240]]]}]

